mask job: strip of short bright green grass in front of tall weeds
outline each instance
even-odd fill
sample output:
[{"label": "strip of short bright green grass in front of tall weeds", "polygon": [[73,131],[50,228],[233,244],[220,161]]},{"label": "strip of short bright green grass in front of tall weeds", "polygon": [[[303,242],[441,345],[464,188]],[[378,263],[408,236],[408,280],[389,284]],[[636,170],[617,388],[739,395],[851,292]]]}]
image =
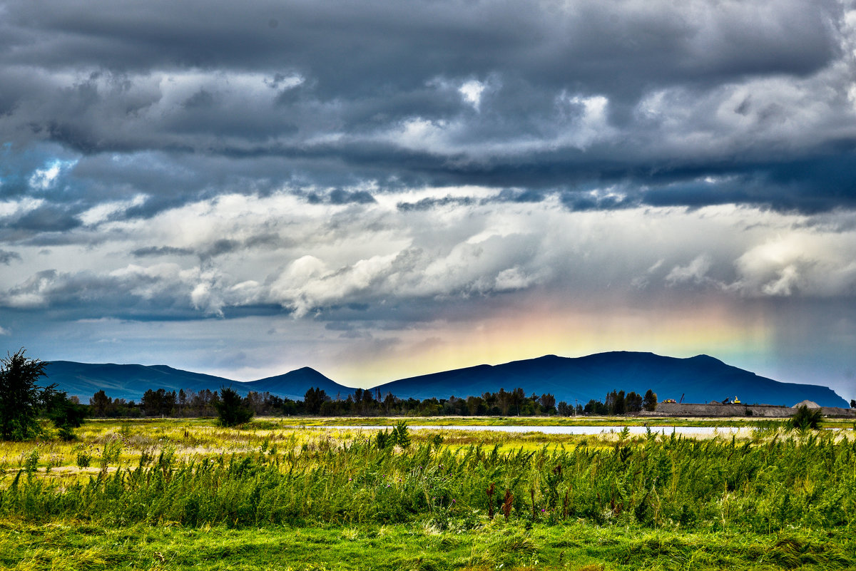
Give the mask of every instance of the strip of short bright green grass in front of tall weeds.
[{"label": "strip of short bright green grass in front of tall weeds", "polygon": [[0,525],[9,569],[843,569],[845,533],[676,533],[633,527],[525,527],[468,533],[431,527]]}]

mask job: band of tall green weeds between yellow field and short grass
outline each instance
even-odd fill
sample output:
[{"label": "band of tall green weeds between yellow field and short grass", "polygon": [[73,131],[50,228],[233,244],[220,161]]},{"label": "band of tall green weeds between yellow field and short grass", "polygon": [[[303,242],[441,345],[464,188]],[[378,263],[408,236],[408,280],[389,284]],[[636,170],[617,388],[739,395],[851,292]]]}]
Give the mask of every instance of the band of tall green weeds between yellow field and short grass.
[{"label": "band of tall green weeds between yellow field and short grass", "polygon": [[[106,446],[102,457],[119,451]],[[180,458],[169,446],[68,484],[22,462],[0,480],[0,516],[263,526],[509,521],[651,528],[853,528],[856,441],[773,436],[760,444],[626,435],[609,448],[502,452],[499,445],[319,439],[302,447]],[[495,493],[488,493],[488,490]],[[504,505],[503,505],[504,504]]]}]

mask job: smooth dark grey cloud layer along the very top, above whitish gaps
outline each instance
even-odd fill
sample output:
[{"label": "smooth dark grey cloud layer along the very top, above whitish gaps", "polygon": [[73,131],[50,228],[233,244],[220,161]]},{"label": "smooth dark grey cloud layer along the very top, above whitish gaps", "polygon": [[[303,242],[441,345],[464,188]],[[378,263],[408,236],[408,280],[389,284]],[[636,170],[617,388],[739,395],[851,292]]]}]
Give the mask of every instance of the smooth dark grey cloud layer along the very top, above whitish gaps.
[{"label": "smooth dark grey cloud layer along the very top, above whitish gaps", "polygon": [[4,53],[15,53],[15,62],[122,71],[284,67],[318,78],[325,91],[360,94],[497,69],[538,83],[604,86],[809,74],[838,50],[829,21],[839,12],[830,2],[691,2],[685,9],[658,2],[621,9],[596,2],[336,2],[323,9],[312,2],[135,2],[95,9],[21,0],[6,3],[3,27]]}]

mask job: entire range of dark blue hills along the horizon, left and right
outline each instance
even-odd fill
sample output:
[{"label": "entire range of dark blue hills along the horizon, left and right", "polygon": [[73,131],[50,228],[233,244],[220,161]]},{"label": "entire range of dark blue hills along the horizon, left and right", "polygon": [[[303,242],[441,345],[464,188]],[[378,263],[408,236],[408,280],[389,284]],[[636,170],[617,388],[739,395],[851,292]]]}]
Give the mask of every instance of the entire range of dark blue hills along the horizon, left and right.
[{"label": "entire range of dark blue hills along the horizon, left and right", "polygon": [[[48,383],[59,390],[77,395],[81,402],[101,390],[113,398],[139,401],[147,389],[168,391],[180,389],[219,391],[231,386],[246,395],[248,391],[268,391],[279,397],[300,400],[310,387],[317,386],[331,398],[345,398],[354,389],[304,367],[266,379],[240,382],[210,374],[191,373],[165,365],[116,365],[70,361],[51,362],[45,368]],[[847,402],[826,386],[780,383],[759,377],[741,368],[731,367],[711,356],[687,359],[659,356],[653,353],[615,351],[569,358],[555,355],[508,362],[502,365],[479,365],[442,373],[395,380],[376,388],[382,395],[388,391],[396,397],[419,399],[480,396],[500,388],[511,391],[518,386],[526,394],[550,392],[556,401],[586,404],[595,398],[603,401],[613,389],[644,394],[651,389],[662,401],[665,398],[685,403],[709,403],[724,398],[740,397],[747,404],[784,404],[791,406],[811,400],[821,406],[847,408]]]}]

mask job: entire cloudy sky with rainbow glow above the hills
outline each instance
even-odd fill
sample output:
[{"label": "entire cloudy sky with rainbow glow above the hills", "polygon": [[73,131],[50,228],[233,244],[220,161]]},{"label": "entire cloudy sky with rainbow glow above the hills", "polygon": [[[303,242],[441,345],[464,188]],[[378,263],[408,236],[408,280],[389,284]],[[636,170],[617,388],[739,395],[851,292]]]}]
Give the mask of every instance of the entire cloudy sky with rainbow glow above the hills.
[{"label": "entire cloudy sky with rainbow glow above the hills", "polygon": [[854,150],[849,1],[0,0],[0,349],[850,399]]}]

